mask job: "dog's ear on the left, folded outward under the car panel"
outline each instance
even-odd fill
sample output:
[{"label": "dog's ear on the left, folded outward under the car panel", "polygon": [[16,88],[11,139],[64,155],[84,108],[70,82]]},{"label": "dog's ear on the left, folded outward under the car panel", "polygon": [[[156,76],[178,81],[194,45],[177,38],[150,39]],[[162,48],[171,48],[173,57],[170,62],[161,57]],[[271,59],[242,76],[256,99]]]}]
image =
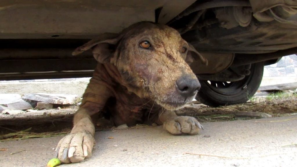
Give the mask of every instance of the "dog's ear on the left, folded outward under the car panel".
[{"label": "dog's ear on the left, folded outward under the car panel", "polygon": [[76,48],[72,52],[72,55],[75,56],[92,49],[93,56],[98,62],[107,63],[110,62],[110,58],[113,56],[116,50],[116,44],[119,40],[121,40],[121,36],[119,34],[104,33]]}]

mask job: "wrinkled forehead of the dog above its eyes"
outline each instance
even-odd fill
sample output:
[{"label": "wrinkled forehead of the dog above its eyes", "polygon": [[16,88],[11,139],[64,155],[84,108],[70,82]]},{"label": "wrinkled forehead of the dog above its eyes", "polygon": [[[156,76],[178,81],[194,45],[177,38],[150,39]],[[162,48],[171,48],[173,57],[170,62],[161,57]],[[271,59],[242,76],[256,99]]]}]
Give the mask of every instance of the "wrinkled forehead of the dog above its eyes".
[{"label": "wrinkled forehead of the dog above its eyes", "polygon": [[[144,23],[138,26],[132,27],[129,32],[126,33],[127,39],[141,40],[148,38],[153,40],[152,42],[173,42],[183,43],[185,40],[181,38],[181,35],[175,29],[159,24]],[[139,42],[139,41],[135,41]]]}]

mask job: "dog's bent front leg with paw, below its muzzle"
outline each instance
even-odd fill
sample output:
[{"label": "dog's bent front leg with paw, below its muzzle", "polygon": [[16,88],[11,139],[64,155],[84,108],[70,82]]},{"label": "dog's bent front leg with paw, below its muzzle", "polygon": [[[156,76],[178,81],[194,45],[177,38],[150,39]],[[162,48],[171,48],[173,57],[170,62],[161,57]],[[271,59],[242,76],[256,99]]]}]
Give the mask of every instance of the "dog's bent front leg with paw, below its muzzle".
[{"label": "dog's bent front leg with paw, below its muzzle", "polygon": [[163,128],[173,135],[196,135],[203,126],[191,116],[177,116],[174,111],[159,112],[159,121]]}]

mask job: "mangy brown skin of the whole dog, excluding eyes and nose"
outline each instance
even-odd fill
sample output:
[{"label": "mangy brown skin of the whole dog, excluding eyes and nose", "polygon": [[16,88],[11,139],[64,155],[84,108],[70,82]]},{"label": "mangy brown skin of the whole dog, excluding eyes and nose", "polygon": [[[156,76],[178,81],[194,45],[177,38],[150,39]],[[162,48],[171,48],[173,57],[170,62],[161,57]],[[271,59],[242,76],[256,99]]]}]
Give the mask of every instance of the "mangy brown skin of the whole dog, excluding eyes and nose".
[{"label": "mangy brown skin of the whole dog, excluding eyes and nose", "polygon": [[[145,40],[151,42],[150,49],[140,47]],[[183,47],[186,53],[181,53]],[[183,75],[197,80],[187,63],[198,53],[176,30],[140,22],[112,39],[92,40],[74,54],[90,48],[99,63],[75,113],[71,133],[56,148],[62,162],[91,156],[95,143],[92,116],[108,114],[115,126],[157,123],[174,135],[199,133],[202,126],[195,118],[174,112],[195,97],[185,99],[178,94],[176,81]]]}]

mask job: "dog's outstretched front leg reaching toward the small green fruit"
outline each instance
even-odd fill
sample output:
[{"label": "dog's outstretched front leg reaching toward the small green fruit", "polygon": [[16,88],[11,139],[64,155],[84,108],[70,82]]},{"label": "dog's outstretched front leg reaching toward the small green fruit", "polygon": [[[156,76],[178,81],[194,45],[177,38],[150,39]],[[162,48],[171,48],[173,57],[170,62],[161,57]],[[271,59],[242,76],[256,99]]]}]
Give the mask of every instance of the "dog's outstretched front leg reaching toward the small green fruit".
[{"label": "dog's outstretched front leg reaching toward the small green fruit", "polygon": [[112,95],[109,85],[96,75],[83,94],[83,101],[75,113],[71,133],[59,141],[56,157],[63,163],[75,163],[91,156],[95,144],[95,127],[91,116],[100,112]]}]

